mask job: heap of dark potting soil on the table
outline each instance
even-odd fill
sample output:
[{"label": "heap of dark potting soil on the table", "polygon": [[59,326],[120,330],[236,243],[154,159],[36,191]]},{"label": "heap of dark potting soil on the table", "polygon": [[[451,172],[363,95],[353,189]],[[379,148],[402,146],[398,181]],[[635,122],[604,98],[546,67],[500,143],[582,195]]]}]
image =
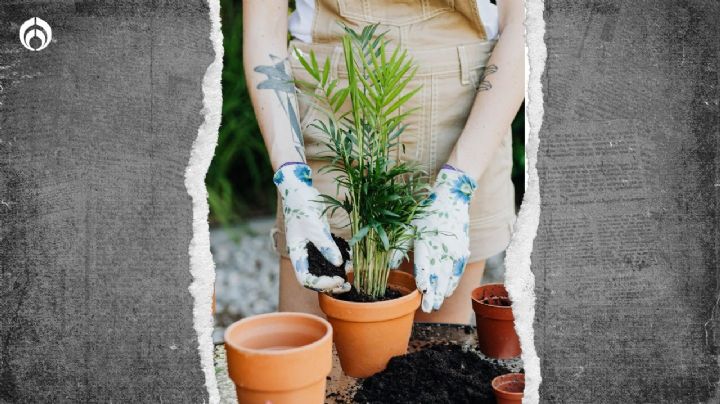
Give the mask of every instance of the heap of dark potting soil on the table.
[{"label": "heap of dark potting soil on the table", "polygon": [[392,358],[385,370],[362,381],[354,401],[491,404],[492,379],[510,372],[459,345],[436,345]]}]

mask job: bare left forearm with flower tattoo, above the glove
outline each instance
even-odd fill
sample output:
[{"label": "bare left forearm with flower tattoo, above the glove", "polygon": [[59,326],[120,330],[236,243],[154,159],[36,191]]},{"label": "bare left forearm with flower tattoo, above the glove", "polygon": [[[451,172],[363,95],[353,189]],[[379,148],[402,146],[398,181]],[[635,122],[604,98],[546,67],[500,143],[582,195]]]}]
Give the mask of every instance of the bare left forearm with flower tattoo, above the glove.
[{"label": "bare left forearm with flower tattoo, above the glove", "polygon": [[287,61],[288,3],[243,1],[243,64],[270,161],[275,169],[305,161],[292,71]]}]

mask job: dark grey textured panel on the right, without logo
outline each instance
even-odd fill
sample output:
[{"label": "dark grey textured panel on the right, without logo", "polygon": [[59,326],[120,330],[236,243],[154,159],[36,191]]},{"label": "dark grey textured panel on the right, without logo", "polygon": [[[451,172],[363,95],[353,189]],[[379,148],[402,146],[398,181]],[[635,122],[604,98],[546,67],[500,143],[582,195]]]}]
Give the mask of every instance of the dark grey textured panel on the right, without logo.
[{"label": "dark grey textured panel on the right, without logo", "polygon": [[719,402],[717,1],[546,0],[543,402]]}]

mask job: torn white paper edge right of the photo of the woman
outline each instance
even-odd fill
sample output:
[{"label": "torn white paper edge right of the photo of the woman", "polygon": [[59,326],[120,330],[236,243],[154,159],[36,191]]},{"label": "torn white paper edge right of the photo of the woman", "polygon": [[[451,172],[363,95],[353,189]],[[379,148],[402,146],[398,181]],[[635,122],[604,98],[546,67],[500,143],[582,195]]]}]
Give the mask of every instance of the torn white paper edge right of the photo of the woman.
[{"label": "torn white paper edge right of the photo of the woman", "polygon": [[543,118],[541,77],[546,49],[543,0],[525,1],[525,195],[505,256],[505,287],[513,302],[515,330],[520,337],[525,368],[524,404],[540,400],[540,359],[535,350],[535,277],[530,268],[533,240],[540,221],[540,183],[537,174],[539,132]]}]

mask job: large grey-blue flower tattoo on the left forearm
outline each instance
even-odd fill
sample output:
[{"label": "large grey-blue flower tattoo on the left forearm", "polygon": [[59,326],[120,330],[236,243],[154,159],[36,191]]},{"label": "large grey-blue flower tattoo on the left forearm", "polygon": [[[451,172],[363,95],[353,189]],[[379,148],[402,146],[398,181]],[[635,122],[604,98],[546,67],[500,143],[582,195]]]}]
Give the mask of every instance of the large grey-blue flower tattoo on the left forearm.
[{"label": "large grey-blue flower tattoo on the left forearm", "polygon": [[258,90],[272,90],[285,110],[290,120],[290,128],[293,135],[293,144],[300,159],[305,161],[305,144],[302,131],[300,130],[300,119],[298,118],[297,98],[295,93],[295,82],[290,77],[290,64],[287,58],[282,59],[270,55],[273,62],[269,66],[256,66],[255,71],[267,76],[267,79],[257,85]]}]

